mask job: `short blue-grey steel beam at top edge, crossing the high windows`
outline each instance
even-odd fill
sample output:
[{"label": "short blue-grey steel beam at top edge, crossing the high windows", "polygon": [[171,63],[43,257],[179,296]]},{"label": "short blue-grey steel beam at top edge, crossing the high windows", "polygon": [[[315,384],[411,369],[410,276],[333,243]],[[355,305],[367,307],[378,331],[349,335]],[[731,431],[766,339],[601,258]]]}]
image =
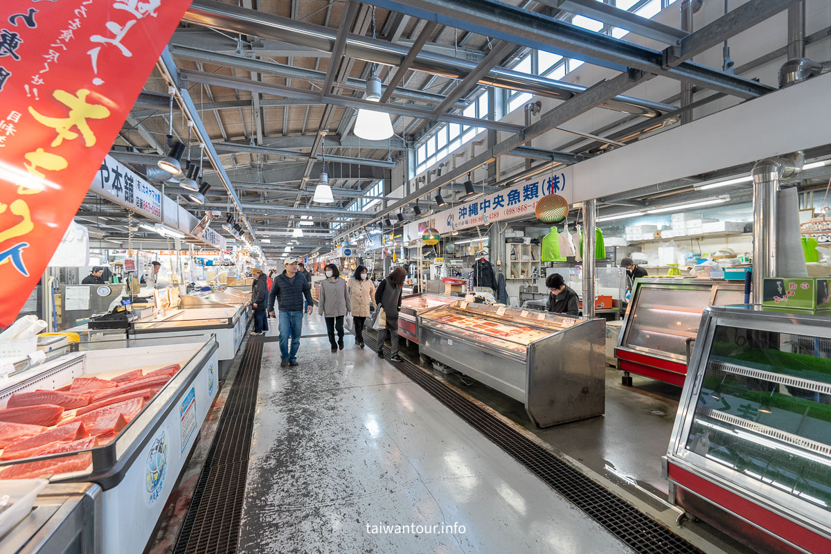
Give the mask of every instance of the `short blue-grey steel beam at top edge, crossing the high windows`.
[{"label": "short blue-grey steel beam at top edge, crossing the high windows", "polygon": [[537,0],[550,7],[558,7],[574,15],[591,17],[612,27],[621,27],[641,37],[651,38],[665,44],[676,44],[688,33],[676,27],[664,25],[619,7],[610,6],[597,0]]}]

